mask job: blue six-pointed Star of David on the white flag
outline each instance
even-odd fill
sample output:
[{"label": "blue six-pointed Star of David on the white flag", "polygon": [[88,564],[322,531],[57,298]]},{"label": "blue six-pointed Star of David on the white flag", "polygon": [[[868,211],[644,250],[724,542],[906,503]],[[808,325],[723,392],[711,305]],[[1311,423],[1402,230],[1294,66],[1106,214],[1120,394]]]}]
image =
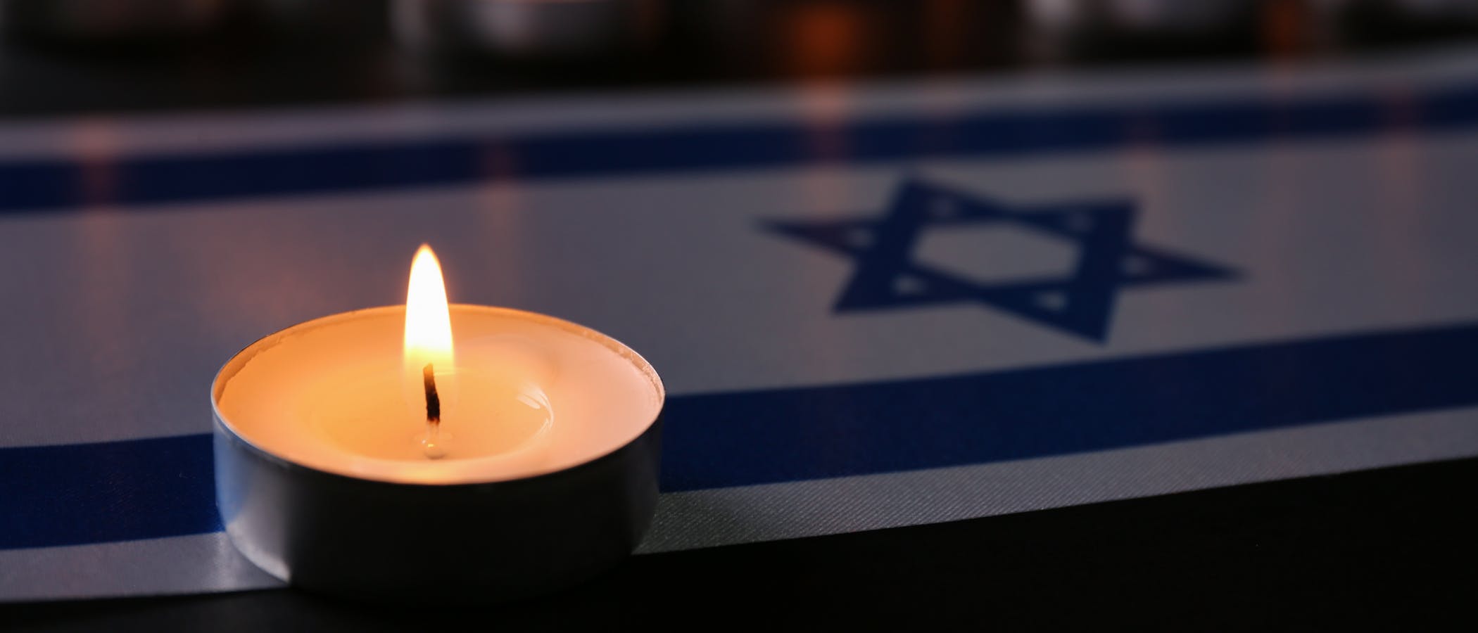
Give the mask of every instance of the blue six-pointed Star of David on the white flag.
[{"label": "blue six-pointed Star of David on the white flag", "polygon": [[[906,181],[881,218],[774,221],[769,229],[856,260],[835,311],[975,301],[1104,342],[1122,288],[1231,279],[1230,269],[1132,243],[1135,208],[1125,199],[1009,207],[933,183]],[[980,283],[915,261],[930,227],[1008,223],[1077,246],[1063,277]],[[936,229],[937,230],[937,229]]]}]

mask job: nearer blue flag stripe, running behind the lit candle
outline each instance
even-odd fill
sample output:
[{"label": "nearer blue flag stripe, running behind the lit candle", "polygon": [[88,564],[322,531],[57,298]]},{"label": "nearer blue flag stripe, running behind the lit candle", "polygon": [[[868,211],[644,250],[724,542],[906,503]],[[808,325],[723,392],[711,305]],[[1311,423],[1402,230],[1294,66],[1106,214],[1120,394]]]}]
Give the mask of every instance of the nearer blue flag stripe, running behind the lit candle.
[{"label": "nearer blue flag stripe, running behind the lit candle", "polygon": [[[1472,406],[1475,357],[1478,325],[1468,325],[674,397],[662,488],[986,463]],[[0,449],[0,549],[219,530],[211,477],[208,435]]]}]

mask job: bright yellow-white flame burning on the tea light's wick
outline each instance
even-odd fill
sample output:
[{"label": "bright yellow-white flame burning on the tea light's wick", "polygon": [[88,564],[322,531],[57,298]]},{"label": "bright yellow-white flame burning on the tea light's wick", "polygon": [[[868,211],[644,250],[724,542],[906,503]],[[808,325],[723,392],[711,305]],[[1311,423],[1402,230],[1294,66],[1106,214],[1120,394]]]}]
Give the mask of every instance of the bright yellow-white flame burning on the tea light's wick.
[{"label": "bright yellow-white flame burning on the tea light's wick", "polygon": [[405,294],[405,366],[420,376],[426,364],[436,364],[437,373],[452,369],[452,319],[442,264],[432,246],[423,243],[411,261]]}]

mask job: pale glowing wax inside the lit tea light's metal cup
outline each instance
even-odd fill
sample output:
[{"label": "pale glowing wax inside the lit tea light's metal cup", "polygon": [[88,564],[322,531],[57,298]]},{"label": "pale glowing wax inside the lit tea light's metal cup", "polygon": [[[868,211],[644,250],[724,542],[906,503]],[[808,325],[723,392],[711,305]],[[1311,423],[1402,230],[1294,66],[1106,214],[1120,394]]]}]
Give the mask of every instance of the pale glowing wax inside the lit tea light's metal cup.
[{"label": "pale glowing wax inside the lit tea light's metal cup", "polygon": [[[405,307],[334,314],[245,348],[216,378],[220,419],[254,447],[319,471],[406,484],[505,481],[562,471],[644,432],[662,406],[652,366],[554,317],[452,305],[446,454],[429,459],[403,381]],[[440,378],[439,378],[440,379]]]}]

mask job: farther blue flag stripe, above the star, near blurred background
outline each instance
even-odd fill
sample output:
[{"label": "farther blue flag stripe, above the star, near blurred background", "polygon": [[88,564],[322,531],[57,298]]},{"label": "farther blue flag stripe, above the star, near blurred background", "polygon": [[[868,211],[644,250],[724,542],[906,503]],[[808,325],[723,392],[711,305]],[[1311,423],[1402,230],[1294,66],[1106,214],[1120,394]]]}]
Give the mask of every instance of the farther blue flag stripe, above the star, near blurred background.
[{"label": "farther blue flag stripe, above the star, near blurred background", "polygon": [[375,190],[488,179],[633,176],[1324,139],[1478,124],[1463,84],[1320,97],[1039,106],[860,121],[460,134],[219,153],[0,162],[0,212]]}]

